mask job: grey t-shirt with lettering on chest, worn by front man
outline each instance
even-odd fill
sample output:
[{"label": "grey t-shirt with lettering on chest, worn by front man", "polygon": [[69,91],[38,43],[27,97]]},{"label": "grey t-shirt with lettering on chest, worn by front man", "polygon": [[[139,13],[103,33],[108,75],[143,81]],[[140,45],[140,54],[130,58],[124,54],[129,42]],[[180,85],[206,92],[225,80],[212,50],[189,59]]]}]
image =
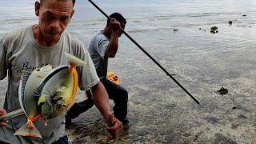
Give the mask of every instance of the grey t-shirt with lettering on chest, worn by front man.
[{"label": "grey t-shirt with lettering on chest, worn by front man", "polygon": [[[14,31],[6,35],[0,42],[0,79],[8,75],[8,88],[4,103],[7,113],[20,109],[18,102],[18,86],[22,70],[32,71],[37,67],[53,67],[68,65],[64,52],[74,54],[86,62],[86,66],[77,67],[78,86],[80,90],[88,90],[99,82],[94,64],[90,55],[85,50],[82,42],[63,32],[60,40],[54,46],[40,46],[34,39],[32,26]],[[7,126],[0,127],[0,142],[5,139],[11,143],[51,143],[65,134],[65,116],[60,114],[57,118],[50,119],[47,126],[42,120],[34,122],[42,134],[42,138],[14,136],[14,132],[26,124],[26,116],[9,120]]]}]

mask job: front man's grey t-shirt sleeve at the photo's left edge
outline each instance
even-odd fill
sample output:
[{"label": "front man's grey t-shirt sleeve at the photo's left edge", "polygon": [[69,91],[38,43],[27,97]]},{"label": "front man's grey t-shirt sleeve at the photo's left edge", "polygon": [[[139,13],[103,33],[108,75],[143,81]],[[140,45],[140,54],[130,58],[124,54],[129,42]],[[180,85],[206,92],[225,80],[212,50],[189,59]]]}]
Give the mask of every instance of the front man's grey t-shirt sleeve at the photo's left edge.
[{"label": "front man's grey t-shirt sleeve at the photo's left edge", "polygon": [[4,38],[0,41],[0,79],[6,78],[7,75],[7,62],[6,62],[6,47]]}]

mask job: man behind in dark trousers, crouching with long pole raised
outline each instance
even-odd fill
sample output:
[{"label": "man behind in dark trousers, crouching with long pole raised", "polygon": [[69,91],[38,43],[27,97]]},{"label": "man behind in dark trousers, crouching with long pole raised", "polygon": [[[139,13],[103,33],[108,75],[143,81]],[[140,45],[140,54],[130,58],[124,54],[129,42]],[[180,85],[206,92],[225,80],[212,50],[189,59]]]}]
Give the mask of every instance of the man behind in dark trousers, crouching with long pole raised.
[{"label": "man behind in dark trousers, crouching with long pole raised", "polygon": [[[120,29],[125,28],[126,18],[123,18],[122,14],[119,13],[111,14],[110,18],[111,20],[107,21],[104,30],[98,32],[98,34],[96,34],[90,41],[88,52],[93,59],[98,77],[105,86],[110,99],[114,100],[114,116],[125,125],[129,122],[126,118],[128,93],[122,86],[106,79],[106,74],[108,58],[114,58],[118,51],[118,38],[122,35]],[[67,112],[67,121],[76,118],[79,114],[88,110],[91,106],[94,106],[93,101],[90,99],[90,93],[86,94],[89,95],[89,98],[86,101],[74,103],[74,106]]]}]

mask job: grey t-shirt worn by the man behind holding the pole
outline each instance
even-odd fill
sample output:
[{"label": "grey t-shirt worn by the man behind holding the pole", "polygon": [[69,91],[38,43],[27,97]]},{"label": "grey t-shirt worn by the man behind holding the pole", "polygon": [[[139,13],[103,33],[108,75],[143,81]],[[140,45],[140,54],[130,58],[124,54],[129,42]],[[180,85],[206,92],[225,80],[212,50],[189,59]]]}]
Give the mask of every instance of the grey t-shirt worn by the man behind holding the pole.
[{"label": "grey t-shirt worn by the man behind holding the pole", "polygon": [[106,78],[108,58],[105,52],[109,42],[109,39],[100,31],[92,38],[88,48],[99,78]]}]

